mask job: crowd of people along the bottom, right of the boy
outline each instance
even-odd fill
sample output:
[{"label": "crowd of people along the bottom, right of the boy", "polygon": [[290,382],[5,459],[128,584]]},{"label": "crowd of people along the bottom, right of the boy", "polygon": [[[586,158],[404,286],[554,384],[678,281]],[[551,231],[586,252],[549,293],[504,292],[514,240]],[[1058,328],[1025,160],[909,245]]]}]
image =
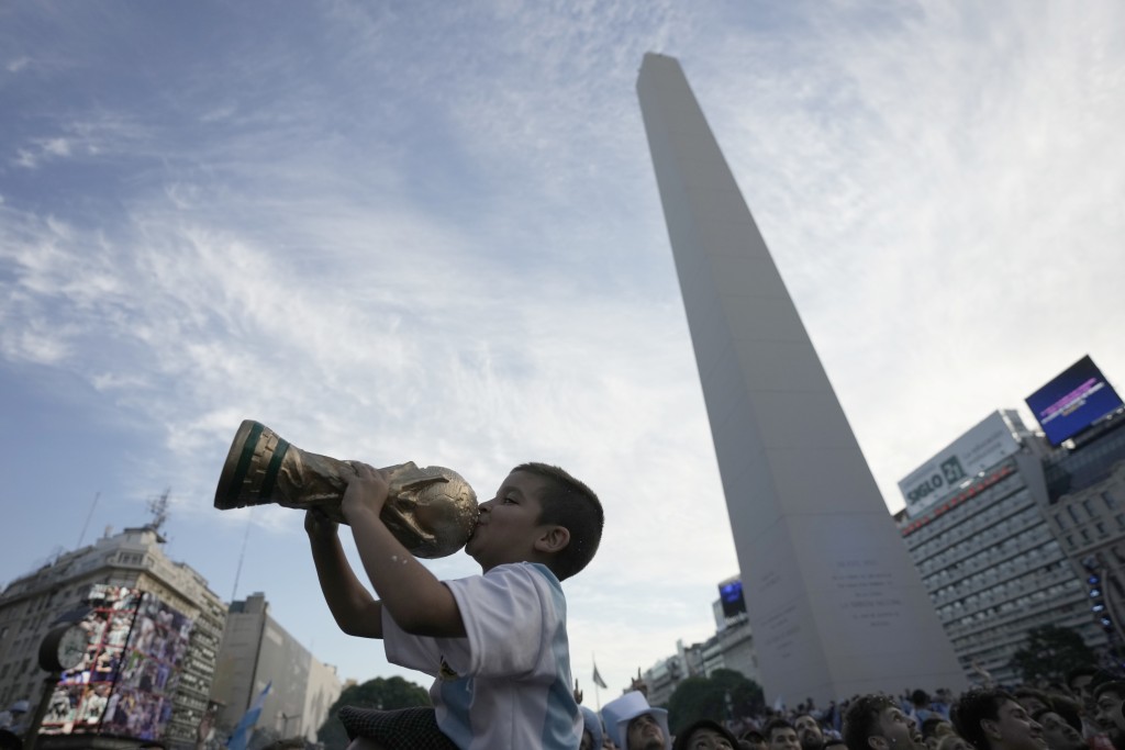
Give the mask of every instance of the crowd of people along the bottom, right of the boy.
[{"label": "crowd of people along the bottom, right of the boy", "polygon": [[1125,750],[1125,678],[1092,667],[1042,687],[857,695],[824,710],[809,699],[675,734],[636,687],[600,714],[582,707],[582,750]]}]

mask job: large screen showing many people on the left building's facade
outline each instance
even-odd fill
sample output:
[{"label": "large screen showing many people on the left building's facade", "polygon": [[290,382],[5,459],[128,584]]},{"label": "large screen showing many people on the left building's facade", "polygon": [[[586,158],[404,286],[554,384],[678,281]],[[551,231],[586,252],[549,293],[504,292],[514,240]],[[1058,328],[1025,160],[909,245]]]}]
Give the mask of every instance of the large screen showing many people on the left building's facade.
[{"label": "large screen showing many people on the left building's facade", "polygon": [[62,674],[40,733],[159,739],[172,715],[192,621],[123,586],[91,587],[89,604],[81,623],[86,657]]}]

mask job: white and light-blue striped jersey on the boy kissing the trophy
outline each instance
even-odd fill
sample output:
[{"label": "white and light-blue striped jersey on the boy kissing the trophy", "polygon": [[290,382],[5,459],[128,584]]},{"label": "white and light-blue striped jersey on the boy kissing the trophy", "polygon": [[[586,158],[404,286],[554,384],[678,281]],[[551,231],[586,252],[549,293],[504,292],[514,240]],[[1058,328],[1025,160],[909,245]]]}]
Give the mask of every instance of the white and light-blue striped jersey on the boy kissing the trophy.
[{"label": "white and light-blue striped jersey on the boy kissing the trophy", "polygon": [[516,562],[442,582],[457,599],[465,638],[411,635],[382,614],[387,660],[438,678],[430,697],[441,731],[462,750],[575,750],[582,714],[555,573]]}]

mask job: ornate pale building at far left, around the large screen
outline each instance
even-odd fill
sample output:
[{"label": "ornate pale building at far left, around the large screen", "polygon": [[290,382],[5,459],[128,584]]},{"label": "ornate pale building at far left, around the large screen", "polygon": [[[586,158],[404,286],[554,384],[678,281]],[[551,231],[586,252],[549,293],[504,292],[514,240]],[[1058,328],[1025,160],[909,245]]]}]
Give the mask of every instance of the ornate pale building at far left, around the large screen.
[{"label": "ornate pale building at far left, around the large screen", "polygon": [[162,739],[171,747],[195,747],[226,607],[202,576],[164,554],[158,528],[159,523],[119,534],[107,530],[93,544],[60,554],[8,585],[0,595],[0,705],[20,698],[38,705],[46,677],[37,663],[38,648],[60,615],[84,607],[99,584],[137,589],[192,621]]}]

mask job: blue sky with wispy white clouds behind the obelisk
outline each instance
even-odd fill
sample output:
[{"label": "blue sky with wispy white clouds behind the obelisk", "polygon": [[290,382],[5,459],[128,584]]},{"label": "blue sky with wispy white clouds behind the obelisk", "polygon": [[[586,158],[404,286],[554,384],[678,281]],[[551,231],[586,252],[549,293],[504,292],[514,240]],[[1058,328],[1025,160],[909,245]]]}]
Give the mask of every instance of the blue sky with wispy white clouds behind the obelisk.
[{"label": "blue sky with wispy white clouds behind the obelisk", "polygon": [[263,591],[342,678],[429,685],[339,632],[299,512],[213,507],[252,418],[482,499],[528,460],[584,479],[587,695],[595,658],[605,701],[713,634],[738,563],[646,52],[683,65],[890,510],[1081,356],[1120,389],[1119,2],[4,3],[0,584],[166,490],[166,553],[223,598]]}]

